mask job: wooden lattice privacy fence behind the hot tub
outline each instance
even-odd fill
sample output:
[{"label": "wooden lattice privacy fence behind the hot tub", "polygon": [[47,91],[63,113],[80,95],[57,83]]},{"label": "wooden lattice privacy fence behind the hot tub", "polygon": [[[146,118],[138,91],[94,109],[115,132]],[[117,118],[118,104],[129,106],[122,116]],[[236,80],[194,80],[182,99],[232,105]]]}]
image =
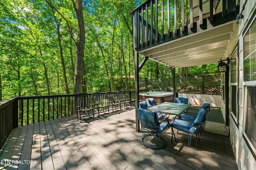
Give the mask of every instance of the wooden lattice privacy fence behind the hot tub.
[{"label": "wooden lattice privacy fence behind the hot tub", "polygon": [[[177,93],[213,94],[220,95],[220,74],[176,77],[175,86]],[[172,78],[147,79],[139,78],[140,90],[173,91]]]}]

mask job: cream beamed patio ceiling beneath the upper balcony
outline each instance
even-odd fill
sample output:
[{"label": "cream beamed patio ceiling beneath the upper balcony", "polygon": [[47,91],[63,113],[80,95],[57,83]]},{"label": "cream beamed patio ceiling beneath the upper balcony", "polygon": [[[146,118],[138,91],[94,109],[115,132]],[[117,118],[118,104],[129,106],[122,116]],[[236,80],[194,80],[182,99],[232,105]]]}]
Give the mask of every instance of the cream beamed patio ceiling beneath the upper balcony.
[{"label": "cream beamed patio ceiling beneath the upper balcony", "polygon": [[230,21],[138,52],[173,68],[218,63],[227,57],[227,46],[235,26],[236,21]]}]

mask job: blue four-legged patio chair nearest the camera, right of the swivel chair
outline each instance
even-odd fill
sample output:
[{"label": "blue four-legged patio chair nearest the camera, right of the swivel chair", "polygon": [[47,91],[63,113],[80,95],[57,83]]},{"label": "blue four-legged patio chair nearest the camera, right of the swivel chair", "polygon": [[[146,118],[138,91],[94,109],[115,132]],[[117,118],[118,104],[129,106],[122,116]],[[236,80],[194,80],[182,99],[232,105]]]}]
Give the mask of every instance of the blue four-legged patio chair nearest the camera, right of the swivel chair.
[{"label": "blue four-legged patio chair nearest the camera, right of the swivel chair", "polygon": [[200,109],[198,111],[198,115],[197,115],[197,117],[194,121],[188,121],[188,120],[182,120],[182,119],[179,119],[179,118],[175,118],[170,123],[170,127],[172,127],[172,137],[174,136],[175,141],[176,141],[176,137],[175,137],[173,128],[178,129],[180,131],[183,131],[183,132],[189,134],[189,136],[188,136],[188,145],[189,146],[191,144],[192,134],[196,133],[196,149],[198,149],[197,136],[198,136],[198,139],[200,141],[198,132],[199,132],[199,128],[202,124],[202,121],[203,121],[203,119],[206,115],[206,112],[208,112],[208,109],[206,109],[206,111],[204,109]]}]

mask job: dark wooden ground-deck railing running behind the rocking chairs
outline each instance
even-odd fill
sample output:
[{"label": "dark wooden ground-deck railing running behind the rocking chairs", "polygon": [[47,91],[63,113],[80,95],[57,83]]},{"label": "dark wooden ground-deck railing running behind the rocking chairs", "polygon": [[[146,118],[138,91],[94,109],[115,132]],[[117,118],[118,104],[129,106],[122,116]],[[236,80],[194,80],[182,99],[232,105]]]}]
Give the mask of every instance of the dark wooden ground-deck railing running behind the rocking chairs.
[{"label": "dark wooden ground-deck railing running behind the rocking chairs", "polygon": [[[126,98],[135,101],[134,91],[125,91]],[[103,102],[107,102],[106,92],[102,92]],[[117,99],[117,92],[113,92]],[[92,98],[92,93],[88,94]],[[46,120],[58,119],[76,114],[77,94],[15,97],[0,101],[0,148],[4,145],[12,129]],[[91,100],[92,102],[92,100]]]}]

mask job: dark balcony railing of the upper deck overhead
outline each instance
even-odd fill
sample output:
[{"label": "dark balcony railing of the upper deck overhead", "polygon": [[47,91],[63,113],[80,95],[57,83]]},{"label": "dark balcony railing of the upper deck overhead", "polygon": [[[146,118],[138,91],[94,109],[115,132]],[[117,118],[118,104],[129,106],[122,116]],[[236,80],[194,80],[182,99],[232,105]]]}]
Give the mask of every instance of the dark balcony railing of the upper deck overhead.
[{"label": "dark balcony railing of the upper deck overhead", "polygon": [[134,48],[141,51],[235,20],[238,13],[236,0],[147,0],[132,11]]}]

